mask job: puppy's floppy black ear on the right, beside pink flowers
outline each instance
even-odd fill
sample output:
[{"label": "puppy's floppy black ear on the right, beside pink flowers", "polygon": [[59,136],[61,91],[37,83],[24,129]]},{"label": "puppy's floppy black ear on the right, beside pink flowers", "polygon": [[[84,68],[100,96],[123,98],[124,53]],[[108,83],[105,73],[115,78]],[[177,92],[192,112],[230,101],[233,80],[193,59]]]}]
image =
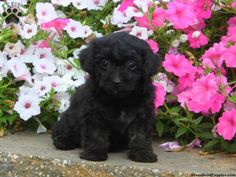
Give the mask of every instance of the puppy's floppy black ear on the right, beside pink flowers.
[{"label": "puppy's floppy black ear on the right, beside pink flowers", "polygon": [[161,58],[152,52],[152,50],[146,49],[144,56],[144,74],[148,77],[152,77],[158,71],[161,65]]}]

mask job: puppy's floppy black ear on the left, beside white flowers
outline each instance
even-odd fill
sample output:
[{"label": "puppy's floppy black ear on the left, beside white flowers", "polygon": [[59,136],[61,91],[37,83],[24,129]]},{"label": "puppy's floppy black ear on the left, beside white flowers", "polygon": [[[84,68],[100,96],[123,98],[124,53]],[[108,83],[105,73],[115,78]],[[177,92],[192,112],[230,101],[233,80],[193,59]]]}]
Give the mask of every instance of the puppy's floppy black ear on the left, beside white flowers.
[{"label": "puppy's floppy black ear on the left, beside white flowers", "polygon": [[83,70],[91,74],[92,72],[92,58],[93,58],[93,49],[92,46],[88,46],[83,49],[79,54],[80,65]]}]

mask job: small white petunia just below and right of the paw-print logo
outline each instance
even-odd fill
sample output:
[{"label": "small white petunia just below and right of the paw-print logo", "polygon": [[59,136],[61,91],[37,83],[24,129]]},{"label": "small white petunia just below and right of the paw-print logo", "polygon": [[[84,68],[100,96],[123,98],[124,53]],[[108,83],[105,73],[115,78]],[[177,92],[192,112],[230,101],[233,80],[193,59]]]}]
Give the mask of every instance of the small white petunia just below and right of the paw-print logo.
[{"label": "small white petunia just below and right of the paw-print logo", "polygon": [[36,24],[24,24],[20,31],[20,35],[23,39],[30,39],[37,34],[37,25]]}]

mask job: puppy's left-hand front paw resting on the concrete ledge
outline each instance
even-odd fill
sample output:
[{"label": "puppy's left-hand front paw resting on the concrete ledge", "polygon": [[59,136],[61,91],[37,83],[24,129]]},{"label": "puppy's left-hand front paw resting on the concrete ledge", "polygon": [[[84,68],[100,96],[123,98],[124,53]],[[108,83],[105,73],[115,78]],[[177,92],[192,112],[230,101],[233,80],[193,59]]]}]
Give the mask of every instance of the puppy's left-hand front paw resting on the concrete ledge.
[{"label": "puppy's left-hand front paw resting on the concrete ledge", "polygon": [[80,158],[91,161],[105,161],[108,158],[107,153],[81,152]]}]

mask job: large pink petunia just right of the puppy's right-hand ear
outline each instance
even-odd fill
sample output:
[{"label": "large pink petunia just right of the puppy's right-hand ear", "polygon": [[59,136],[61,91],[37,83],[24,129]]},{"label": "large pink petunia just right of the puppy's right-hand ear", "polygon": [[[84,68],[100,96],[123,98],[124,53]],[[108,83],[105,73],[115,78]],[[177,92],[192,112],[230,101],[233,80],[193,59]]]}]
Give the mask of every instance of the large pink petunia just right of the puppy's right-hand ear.
[{"label": "large pink petunia just right of the puppy's right-hand ear", "polygon": [[174,73],[176,76],[182,77],[187,73],[195,72],[196,68],[192,66],[190,61],[184,55],[166,54],[163,66],[166,71]]}]

